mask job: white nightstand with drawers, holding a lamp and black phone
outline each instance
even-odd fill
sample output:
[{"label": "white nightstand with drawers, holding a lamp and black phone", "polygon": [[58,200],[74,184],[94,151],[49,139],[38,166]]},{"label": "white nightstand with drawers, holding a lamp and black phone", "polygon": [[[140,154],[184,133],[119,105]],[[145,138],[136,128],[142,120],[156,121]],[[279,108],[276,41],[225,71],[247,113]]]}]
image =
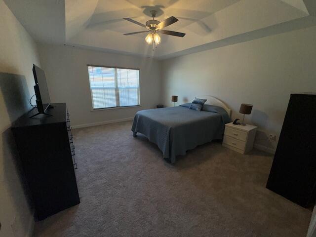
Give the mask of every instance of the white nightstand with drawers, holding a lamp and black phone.
[{"label": "white nightstand with drawers, holding a lamp and black phone", "polygon": [[252,150],[257,127],[246,124],[245,126],[233,124],[225,125],[223,146],[231,150],[245,154]]}]

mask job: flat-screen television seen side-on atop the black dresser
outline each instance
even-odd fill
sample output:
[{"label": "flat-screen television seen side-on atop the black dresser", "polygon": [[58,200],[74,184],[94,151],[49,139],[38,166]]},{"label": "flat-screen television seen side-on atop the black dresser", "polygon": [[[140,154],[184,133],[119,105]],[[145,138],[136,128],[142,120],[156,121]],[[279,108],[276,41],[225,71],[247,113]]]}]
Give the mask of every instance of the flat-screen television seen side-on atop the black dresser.
[{"label": "flat-screen television seen side-on atop the black dresser", "polygon": [[43,113],[50,105],[50,98],[45,78],[45,73],[33,64],[33,75],[35,79],[35,94],[38,111]]}]

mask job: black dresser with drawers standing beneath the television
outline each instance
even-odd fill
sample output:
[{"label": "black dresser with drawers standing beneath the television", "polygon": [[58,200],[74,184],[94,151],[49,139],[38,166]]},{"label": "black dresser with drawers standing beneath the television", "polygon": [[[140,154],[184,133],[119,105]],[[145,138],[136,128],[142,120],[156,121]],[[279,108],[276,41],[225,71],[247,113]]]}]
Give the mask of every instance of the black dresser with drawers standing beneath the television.
[{"label": "black dresser with drawers standing beneath the television", "polygon": [[46,110],[51,117],[29,118],[37,113],[35,109],[11,126],[37,220],[80,203],[67,106],[51,105]]}]

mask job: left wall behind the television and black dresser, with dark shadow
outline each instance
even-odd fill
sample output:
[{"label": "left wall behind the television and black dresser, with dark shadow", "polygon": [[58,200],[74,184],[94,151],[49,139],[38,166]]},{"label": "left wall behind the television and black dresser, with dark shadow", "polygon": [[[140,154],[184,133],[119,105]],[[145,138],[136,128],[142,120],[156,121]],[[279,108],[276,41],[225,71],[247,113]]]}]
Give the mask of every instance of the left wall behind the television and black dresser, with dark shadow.
[{"label": "left wall behind the television and black dresser, with dark shadow", "polygon": [[33,63],[40,64],[36,43],[0,0],[0,237],[28,236],[34,224],[9,129],[30,108]]}]

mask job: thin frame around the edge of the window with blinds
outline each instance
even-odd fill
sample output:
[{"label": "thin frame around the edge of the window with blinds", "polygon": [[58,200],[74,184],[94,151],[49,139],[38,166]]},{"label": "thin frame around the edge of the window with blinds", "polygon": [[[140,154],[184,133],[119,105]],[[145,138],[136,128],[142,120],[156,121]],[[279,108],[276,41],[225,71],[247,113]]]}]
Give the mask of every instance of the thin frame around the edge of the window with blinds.
[{"label": "thin frame around the edge of the window with blinds", "polygon": [[[91,98],[91,111],[100,111],[100,110],[113,110],[113,109],[123,109],[123,108],[133,108],[133,107],[141,107],[140,103],[140,69],[139,68],[126,68],[126,67],[118,67],[118,66],[102,66],[102,65],[95,65],[95,64],[87,64],[87,72],[88,72],[88,80],[89,80],[89,89],[90,89],[90,98]],[[99,67],[99,68],[115,68],[115,69],[131,69],[131,70],[138,70],[138,105],[129,105],[129,106],[113,106],[113,107],[105,107],[105,108],[93,108],[93,97],[91,92],[91,81],[89,77],[89,68],[88,67]],[[117,79],[116,79],[117,80]]]}]

